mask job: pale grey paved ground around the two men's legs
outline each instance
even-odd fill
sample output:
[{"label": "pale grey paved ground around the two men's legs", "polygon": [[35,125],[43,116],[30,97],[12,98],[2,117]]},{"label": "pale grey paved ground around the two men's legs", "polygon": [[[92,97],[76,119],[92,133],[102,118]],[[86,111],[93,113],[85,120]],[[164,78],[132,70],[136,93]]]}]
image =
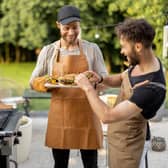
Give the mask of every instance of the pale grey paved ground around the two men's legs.
[{"label": "pale grey paved ground around the two men's legs", "polygon": [[[19,168],[53,168],[51,151],[44,146],[47,117],[32,117],[33,134],[29,158],[19,164]],[[160,122],[150,122],[152,136],[163,136],[168,143],[168,117]],[[168,149],[164,152],[148,153],[149,168],[168,168]],[[99,168],[106,166],[106,150],[99,151]],[[12,167],[12,166],[11,166]],[[13,168],[13,167],[12,167]],[[69,168],[82,168],[82,162],[78,151],[73,150],[70,154]]]}]

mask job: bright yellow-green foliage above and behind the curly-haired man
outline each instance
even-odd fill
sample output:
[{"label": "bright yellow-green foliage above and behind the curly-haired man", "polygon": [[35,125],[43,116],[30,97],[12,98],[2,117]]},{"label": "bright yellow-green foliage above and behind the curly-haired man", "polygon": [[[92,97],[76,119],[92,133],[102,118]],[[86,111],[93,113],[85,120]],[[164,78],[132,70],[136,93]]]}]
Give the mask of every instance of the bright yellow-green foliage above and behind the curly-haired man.
[{"label": "bright yellow-green foliage above and behind the curly-haired man", "polygon": [[145,18],[156,30],[156,37],[154,40],[156,52],[159,56],[162,55],[162,38],[163,26],[166,23],[165,12],[168,11],[168,1],[166,0],[116,0],[115,3],[109,5],[109,12],[114,13],[120,11],[124,18]]}]

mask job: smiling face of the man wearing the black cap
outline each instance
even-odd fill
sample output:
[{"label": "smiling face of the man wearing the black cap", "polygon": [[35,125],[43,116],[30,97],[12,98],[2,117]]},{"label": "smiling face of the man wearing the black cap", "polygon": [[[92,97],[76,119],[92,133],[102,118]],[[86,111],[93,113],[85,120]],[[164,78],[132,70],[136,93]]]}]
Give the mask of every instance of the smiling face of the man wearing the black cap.
[{"label": "smiling face of the man wearing the black cap", "polygon": [[71,22],[66,25],[59,24],[61,38],[68,44],[74,44],[80,33],[80,22]]}]

